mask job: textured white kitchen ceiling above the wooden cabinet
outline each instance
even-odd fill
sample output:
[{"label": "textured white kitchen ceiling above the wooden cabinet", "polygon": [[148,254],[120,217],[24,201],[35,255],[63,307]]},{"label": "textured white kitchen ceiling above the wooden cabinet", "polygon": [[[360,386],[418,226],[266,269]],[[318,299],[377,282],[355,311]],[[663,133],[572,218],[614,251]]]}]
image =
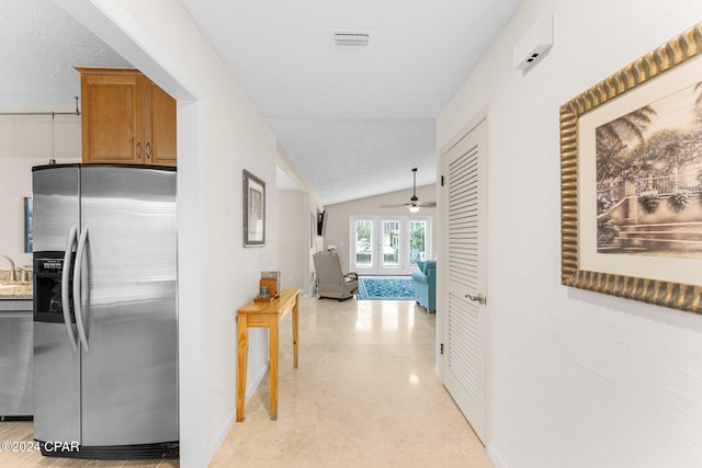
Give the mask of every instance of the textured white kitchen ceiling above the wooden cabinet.
[{"label": "textured white kitchen ceiling above the wooden cabinet", "polygon": [[0,0],[0,110],[71,111],[78,66],[132,68],[50,0]]}]

